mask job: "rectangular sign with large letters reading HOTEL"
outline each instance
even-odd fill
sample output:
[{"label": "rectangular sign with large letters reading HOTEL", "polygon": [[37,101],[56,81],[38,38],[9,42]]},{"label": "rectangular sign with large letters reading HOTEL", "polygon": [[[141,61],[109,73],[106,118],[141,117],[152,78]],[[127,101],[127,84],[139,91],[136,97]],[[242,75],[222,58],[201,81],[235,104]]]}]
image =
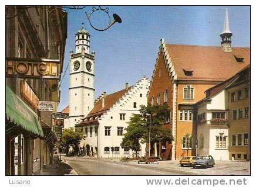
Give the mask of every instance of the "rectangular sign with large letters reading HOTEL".
[{"label": "rectangular sign with large letters reading HOTEL", "polygon": [[59,79],[59,60],[6,58],[6,77]]}]

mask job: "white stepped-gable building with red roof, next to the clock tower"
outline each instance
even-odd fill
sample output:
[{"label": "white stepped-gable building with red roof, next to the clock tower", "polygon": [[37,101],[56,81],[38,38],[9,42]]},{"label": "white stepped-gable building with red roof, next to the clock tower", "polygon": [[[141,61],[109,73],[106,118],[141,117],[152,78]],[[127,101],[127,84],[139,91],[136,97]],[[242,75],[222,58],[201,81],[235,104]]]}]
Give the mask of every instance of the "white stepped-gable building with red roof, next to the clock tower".
[{"label": "white stepped-gable building with red roof, next to the clock tower", "polygon": [[[83,131],[86,140],[80,143],[86,155],[100,158],[132,157],[129,148],[122,148],[120,143],[130,117],[140,113],[140,106],[147,105],[149,79],[141,78],[135,85],[128,86],[110,95],[103,93],[96,99],[95,107],[76,125]],[[146,153],[146,144],[141,144],[139,155]]]}]

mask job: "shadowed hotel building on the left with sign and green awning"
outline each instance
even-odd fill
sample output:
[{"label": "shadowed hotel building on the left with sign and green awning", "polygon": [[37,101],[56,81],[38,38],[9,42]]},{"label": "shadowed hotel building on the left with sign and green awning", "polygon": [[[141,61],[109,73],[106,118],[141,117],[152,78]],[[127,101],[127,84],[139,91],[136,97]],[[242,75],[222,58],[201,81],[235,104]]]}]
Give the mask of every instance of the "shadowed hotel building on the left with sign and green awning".
[{"label": "shadowed hotel building on the left with sign and green awning", "polygon": [[[52,161],[67,16],[60,6],[6,6],[6,175]],[[55,102],[53,111],[39,111],[39,101]]]}]

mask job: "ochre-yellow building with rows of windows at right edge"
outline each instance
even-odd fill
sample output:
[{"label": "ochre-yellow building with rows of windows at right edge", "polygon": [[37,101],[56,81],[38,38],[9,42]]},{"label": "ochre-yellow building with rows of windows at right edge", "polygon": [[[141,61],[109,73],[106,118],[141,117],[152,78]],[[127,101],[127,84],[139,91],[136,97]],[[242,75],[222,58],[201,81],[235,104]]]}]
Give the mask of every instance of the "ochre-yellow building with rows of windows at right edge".
[{"label": "ochre-yellow building with rows of windows at right edge", "polygon": [[238,72],[226,88],[229,120],[229,159],[250,160],[250,66]]}]

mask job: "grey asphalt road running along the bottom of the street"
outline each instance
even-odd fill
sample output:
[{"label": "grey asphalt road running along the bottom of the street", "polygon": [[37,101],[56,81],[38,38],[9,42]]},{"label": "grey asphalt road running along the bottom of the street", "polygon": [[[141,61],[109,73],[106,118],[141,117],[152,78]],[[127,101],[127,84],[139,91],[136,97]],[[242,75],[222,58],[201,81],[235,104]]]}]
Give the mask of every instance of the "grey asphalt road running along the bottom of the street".
[{"label": "grey asphalt road running along the bottom of the street", "polygon": [[154,168],[150,164],[129,164],[82,157],[65,157],[78,175],[189,175],[186,172]]}]

